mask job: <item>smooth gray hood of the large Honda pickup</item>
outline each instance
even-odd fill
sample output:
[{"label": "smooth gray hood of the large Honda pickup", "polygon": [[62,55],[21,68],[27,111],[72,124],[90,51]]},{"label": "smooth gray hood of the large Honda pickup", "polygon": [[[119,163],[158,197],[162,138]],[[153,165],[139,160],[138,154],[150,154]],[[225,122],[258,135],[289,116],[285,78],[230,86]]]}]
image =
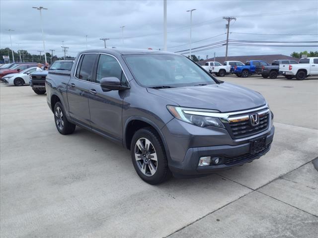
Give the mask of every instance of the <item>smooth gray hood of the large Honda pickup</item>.
[{"label": "smooth gray hood of the large Honda pickup", "polygon": [[213,109],[223,113],[256,108],[266,104],[266,100],[260,93],[226,82],[206,86],[148,88],[147,90],[181,107]]}]

